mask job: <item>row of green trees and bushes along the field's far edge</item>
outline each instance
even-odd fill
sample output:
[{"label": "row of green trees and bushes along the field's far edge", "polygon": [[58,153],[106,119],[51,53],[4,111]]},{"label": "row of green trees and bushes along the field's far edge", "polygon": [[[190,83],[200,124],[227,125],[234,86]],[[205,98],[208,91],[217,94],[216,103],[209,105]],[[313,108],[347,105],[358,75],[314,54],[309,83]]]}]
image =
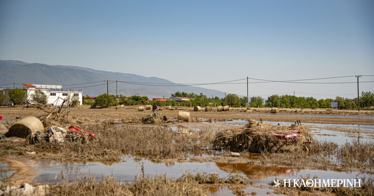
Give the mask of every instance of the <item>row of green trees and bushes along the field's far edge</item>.
[{"label": "row of green trees and bushes along the field's far edge", "polygon": [[[165,101],[149,101],[148,104],[156,104],[158,106],[225,106],[231,107],[245,107],[247,105],[247,97],[239,97],[236,94],[227,94],[226,98],[207,97],[206,95],[179,92],[171,94],[173,97],[189,97],[193,100],[175,102],[172,100]],[[88,96],[88,95],[87,95]],[[131,96],[126,99],[125,96],[119,96],[119,105],[141,105],[147,101],[147,96]],[[281,108],[331,108],[331,102],[338,103],[338,109],[357,109],[358,99],[349,99],[337,96],[335,99],[315,99],[313,97],[296,97],[291,95],[279,96],[274,94],[268,96],[266,102],[260,96],[251,97],[249,105],[251,107],[281,107]],[[85,103],[85,101],[83,102]],[[362,92],[360,96],[361,108],[372,108],[374,106],[374,94],[369,92]],[[102,94],[97,97],[95,102],[89,103],[100,107],[110,107],[116,104],[115,96]]]}]

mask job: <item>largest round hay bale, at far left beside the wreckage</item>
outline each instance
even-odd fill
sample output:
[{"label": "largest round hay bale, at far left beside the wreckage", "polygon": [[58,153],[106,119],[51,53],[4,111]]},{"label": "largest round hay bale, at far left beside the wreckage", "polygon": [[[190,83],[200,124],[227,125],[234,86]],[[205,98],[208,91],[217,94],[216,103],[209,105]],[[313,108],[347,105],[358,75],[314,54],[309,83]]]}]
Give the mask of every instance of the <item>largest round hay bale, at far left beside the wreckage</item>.
[{"label": "largest round hay bale, at far left beside the wreckage", "polygon": [[13,124],[12,127],[9,128],[6,136],[26,138],[31,133],[35,134],[37,131],[44,133],[42,121],[34,116],[27,116],[26,118],[21,119]]}]

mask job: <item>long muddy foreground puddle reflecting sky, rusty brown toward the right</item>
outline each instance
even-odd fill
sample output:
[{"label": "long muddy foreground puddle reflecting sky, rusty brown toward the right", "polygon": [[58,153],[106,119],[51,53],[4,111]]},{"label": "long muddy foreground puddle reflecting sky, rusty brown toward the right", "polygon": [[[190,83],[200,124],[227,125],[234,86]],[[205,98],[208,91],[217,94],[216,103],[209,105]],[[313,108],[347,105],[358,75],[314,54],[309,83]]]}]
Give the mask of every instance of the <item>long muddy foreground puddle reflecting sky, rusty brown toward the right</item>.
[{"label": "long muddy foreground puddle reflecting sky, rusty brown toward the right", "polygon": [[361,174],[359,172],[338,172],[331,170],[316,169],[293,169],[281,167],[262,167],[250,164],[227,164],[215,162],[166,162],[153,163],[145,158],[134,158],[132,156],[123,156],[122,161],[104,164],[101,162],[68,162],[58,160],[36,160],[36,159],[18,159],[27,162],[37,173],[33,180],[36,183],[59,183],[61,181],[61,172],[69,180],[80,178],[82,175],[91,175],[98,179],[102,176],[113,175],[120,181],[133,182],[135,176],[142,175],[141,167],[144,166],[146,176],[165,173],[166,176],[175,178],[180,177],[183,171],[195,173],[199,172],[217,172],[221,177],[227,177],[229,174],[242,174],[248,177],[254,185],[267,186],[275,178],[280,179],[298,179],[300,176],[311,177],[317,175],[322,179],[355,179],[355,178],[373,178],[373,174]]}]

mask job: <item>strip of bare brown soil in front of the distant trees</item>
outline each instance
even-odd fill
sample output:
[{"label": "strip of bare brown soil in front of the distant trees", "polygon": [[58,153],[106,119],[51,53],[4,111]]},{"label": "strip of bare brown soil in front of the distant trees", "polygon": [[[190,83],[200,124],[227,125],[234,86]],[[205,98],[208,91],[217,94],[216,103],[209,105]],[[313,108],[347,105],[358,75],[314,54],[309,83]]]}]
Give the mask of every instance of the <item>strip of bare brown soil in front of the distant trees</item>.
[{"label": "strip of bare brown soil in front of the distant trees", "polygon": [[[90,109],[88,105],[77,106],[70,109],[70,112],[77,117],[91,118],[92,120],[114,120],[114,119],[139,119],[144,116],[145,111],[139,112],[138,106],[125,106],[123,109],[113,109],[113,108],[104,108],[104,109]],[[179,111],[190,112],[191,118],[220,118],[220,119],[255,119],[257,121],[284,121],[284,122],[295,122],[300,120],[301,122],[309,123],[323,123],[323,124],[360,124],[360,125],[374,125],[374,119],[357,119],[357,118],[331,118],[326,117],[326,115],[332,116],[374,116],[373,111],[322,111],[322,110],[305,110],[301,109],[281,109],[279,114],[293,114],[300,116],[280,116],[280,115],[268,115],[270,113],[270,108],[255,108],[252,109],[252,112],[245,112],[244,108],[232,108],[230,111],[217,112],[216,109],[211,112],[205,111],[193,111],[192,107],[172,107],[172,110],[163,109],[161,107],[159,112],[163,115],[168,116],[169,118],[177,118]],[[175,109],[177,108],[177,109]],[[23,110],[23,111],[22,111]],[[17,116],[38,116],[42,115],[45,112],[38,110],[37,108],[27,108],[27,107],[1,107],[1,115],[3,115],[3,120],[5,121],[15,121]],[[297,111],[297,112],[295,112]],[[21,114],[22,112],[22,114]],[[243,114],[260,114],[260,115],[243,115]],[[266,114],[266,115],[261,115]],[[309,117],[303,115],[322,115],[325,117]]]}]

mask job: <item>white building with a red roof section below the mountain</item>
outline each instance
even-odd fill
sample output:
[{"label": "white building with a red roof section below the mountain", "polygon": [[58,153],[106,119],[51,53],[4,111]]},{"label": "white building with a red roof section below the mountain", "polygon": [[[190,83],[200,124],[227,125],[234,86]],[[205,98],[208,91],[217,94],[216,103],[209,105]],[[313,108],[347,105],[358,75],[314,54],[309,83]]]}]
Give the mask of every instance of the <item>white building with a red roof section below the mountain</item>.
[{"label": "white building with a red roof section below the mountain", "polygon": [[67,97],[77,96],[79,105],[82,105],[83,91],[63,91],[62,85],[43,84],[23,84],[23,88],[26,90],[27,99],[32,99],[31,95],[40,90],[47,95],[47,104],[61,105]]}]

